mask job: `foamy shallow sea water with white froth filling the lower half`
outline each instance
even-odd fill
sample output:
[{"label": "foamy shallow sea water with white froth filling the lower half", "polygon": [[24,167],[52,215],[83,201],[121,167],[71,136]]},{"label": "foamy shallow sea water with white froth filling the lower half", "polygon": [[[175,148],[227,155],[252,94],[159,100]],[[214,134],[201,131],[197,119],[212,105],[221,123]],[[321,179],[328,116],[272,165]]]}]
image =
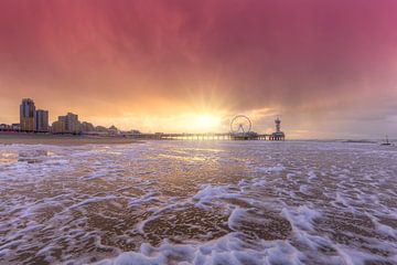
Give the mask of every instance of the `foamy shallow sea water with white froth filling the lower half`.
[{"label": "foamy shallow sea water with white froth filling the lower half", "polygon": [[397,147],[1,145],[0,264],[397,264]]}]

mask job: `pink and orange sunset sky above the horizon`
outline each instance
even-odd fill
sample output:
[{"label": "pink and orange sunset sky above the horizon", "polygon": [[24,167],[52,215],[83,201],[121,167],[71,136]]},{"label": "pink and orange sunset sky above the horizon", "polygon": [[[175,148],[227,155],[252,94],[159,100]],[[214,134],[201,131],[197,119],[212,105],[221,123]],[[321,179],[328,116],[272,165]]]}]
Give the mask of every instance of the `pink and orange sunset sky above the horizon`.
[{"label": "pink and orange sunset sky above the horizon", "polygon": [[0,123],[397,138],[395,0],[1,0]]}]

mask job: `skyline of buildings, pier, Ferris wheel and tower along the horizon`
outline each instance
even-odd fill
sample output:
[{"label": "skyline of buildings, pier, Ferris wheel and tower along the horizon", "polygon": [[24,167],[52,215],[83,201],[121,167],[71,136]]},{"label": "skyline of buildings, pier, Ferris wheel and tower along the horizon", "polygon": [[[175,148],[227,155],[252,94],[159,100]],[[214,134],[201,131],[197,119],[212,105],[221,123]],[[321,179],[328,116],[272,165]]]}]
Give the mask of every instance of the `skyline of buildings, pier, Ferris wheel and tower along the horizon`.
[{"label": "skyline of buildings, pier, Ferris wheel and tower along the horizon", "polygon": [[[275,118],[275,130],[271,132],[255,131],[253,130],[253,121],[245,115],[236,115],[229,121],[228,131],[206,131],[206,132],[170,132],[170,131],[157,131],[148,132],[137,129],[120,130],[115,125],[105,127],[101,125],[94,126],[88,121],[81,121],[78,115],[74,113],[67,113],[66,115],[58,116],[56,120],[50,126],[49,110],[36,109],[34,100],[32,98],[22,98],[20,105],[20,124],[0,124],[0,131],[14,135],[20,132],[22,136],[26,136],[26,132],[32,134],[46,134],[46,135],[75,135],[75,136],[119,136],[122,138],[135,137],[139,139],[180,139],[180,140],[285,140],[286,134],[281,130],[280,116]],[[210,125],[208,120],[194,120],[205,126]],[[200,124],[205,123],[205,124]],[[205,126],[204,126],[205,125]]]}]

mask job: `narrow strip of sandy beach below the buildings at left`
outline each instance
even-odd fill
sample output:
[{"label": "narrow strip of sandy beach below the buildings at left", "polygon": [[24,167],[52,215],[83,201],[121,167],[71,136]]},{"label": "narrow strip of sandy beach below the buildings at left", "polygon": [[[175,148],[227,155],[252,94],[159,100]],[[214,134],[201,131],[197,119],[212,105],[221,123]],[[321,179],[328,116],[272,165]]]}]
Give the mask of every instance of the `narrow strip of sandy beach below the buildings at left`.
[{"label": "narrow strip of sandy beach below the buildings at left", "polygon": [[125,137],[106,136],[63,136],[63,135],[33,135],[33,134],[0,134],[0,145],[56,145],[76,146],[89,144],[132,144],[140,142]]}]

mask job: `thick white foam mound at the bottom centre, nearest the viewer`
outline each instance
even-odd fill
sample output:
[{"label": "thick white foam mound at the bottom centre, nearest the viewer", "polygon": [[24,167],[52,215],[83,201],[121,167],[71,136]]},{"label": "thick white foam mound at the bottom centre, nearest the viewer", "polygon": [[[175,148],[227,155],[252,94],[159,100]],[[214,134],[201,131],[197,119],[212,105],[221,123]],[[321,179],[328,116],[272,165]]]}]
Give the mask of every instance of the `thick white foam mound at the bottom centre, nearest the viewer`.
[{"label": "thick white foam mound at the bottom centre, nearest the viewer", "polygon": [[143,244],[139,252],[126,252],[116,258],[97,263],[98,265],[158,265],[158,264],[286,264],[302,265],[302,254],[288,242],[257,242],[249,248],[237,233],[210,241],[185,245],[163,242],[159,247]]}]

